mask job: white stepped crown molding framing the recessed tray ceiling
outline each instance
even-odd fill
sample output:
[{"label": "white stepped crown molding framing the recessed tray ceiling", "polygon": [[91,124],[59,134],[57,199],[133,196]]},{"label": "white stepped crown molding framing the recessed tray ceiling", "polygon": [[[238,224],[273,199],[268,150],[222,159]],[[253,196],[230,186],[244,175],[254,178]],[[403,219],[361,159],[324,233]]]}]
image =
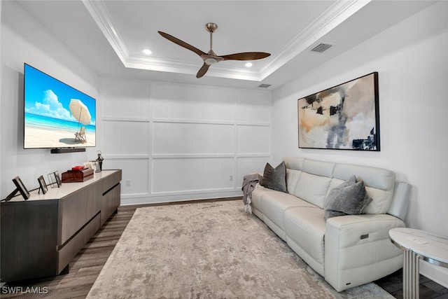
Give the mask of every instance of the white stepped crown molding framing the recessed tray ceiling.
[{"label": "white stepped crown molding framing the recessed tray ceiling", "polygon": [[[125,41],[121,38],[118,28],[106,8],[104,0],[82,1],[125,67],[151,71],[169,71],[181,74],[197,73],[200,67],[200,64],[197,63],[146,57],[143,55],[131,56]],[[330,6],[314,22],[311,22],[302,32],[297,34],[292,41],[283,46],[279,53],[272,55],[269,62],[258,70],[214,65],[207,72],[207,76],[262,81],[282,67],[283,64],[286,64],[295,56],[307,50],[309,46],[316,43],[325,34],[328,34],[328,32],[344,22],[344,20],[350,18],[351,15],[359,11],[360,8],[363,8],[370,1],[372,0],[336,1],[335,4]]]}]

